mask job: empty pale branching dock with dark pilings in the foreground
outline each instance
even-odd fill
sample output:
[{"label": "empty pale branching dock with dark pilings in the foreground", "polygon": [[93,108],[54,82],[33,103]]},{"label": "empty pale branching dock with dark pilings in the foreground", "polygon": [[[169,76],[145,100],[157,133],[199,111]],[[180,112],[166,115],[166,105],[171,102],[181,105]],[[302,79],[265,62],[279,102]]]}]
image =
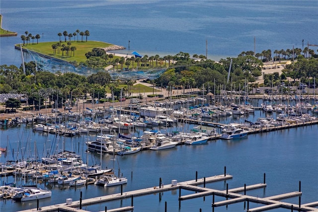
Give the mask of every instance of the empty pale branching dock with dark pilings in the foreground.
[{"label": "empty pale branching dock with dark pilings in the foreground", "polygon": [[[102,196],[102,197],[96,197],[96,198],[90,198],[86,200],[82,200],[80,197],[79,201],[74,201],[72,199],[69,199],[71,201],[67,201],[66,204],[57,204],[57,205],[52,205],[52,206],[46,206],[46,207],[41,207],[37,209],[30,209],[30,210],[25,210],[21,212],[36,212],[36,211],[41,211],[41,212],[56,212],[56,211],[63,211],[63,212],[87,212],[85,210],[82,210],[82,207],[88,206],[88,205],[93,205],[93,204],[100,204],[100,203],[107,203],[108,201],[114,201],[114,200],[121,200],[121,199],[126,199],[126,198],[131,198],[131,206],[125,206],[122,208],[116,208],[116,209],[109,209],[107,210],[107,207],[105,207],[105,212],[121,212],[121,211],[132,211],[134,210],[134,205],[133,205],[133,198],[134,197],[139,197],[139,196],[144,196],[144,195],[151,195],[151,194],[156,194],[156,193],[162,193],[162,192],[167,192],[170,190],[177,190],[179,189],[179,197],[178,197],[178,202],[179,202],[179,208],[181,207],[181,202],[189,199],[194,199],[194,198],[199,198],[199,197],[206,197],[206,196],[211,196],[213,195],[213,202],[212,202],[212,211],[214,212],[214,209],[216,207],[221,207],[221,206],[227,206],[230,204],[235,204],[239,202],[247,202],[247,212],[260,212],[260,211],[267,211],[275,208],[284,208],[284,209],[291,209],[295,211],[301,211],[301,212],[318,212],[317,207],[318,202],[314,203],[307,203],[301,205],[301,195],[302,192],[300,191],[301,189],[301,182],[299,182],[299,191],[298,192],[290,192],[286,194],[281,194],[281,195],[276,195],[272,197],[264,197],[264,198],[259,198],[259,197],[253,197],[253,196],[248,196],[246,195],[246,190],[252,190],[252,189],[258,189],[258,188],[264,188],[266,187],[265,183],[265,173],[264,173],[264,182],[259,183],[259,184],[254,184],[254,185],[249,185],[246,186],[244,184],[244,187],[239,187],[239,188],[234,188],[234,189],[228,189],[228,184],[227,184],[227,190],[220,191],[220,190],[215,190],[215,189],[210,189],[206,188],[206,183],[212,183],[212,182],[217,182],[217,181],[225,181],[227,179],[232,179],[233,176],[226,174],[226,167],[225,167],[225,173],[223,175],[216,175],[212,177],[204,177],[204,178],[197,178],[197,173],[196,173],[196,179],[195,180],[190,180],[190,181],[185,181],[185,182],[179,182],[177,183],[176,180],[172,180],[170,185],[160,185],[152,187],[152,188],[146,188],[146,189],[140,189],[140,190],[135,190],[135,191],[129,191],[129,192],[121,192],[118,194],[112,194],[112,195],[107,195],[107,196]],[[161,181],[161,179],[160,179]],[[203,185],[203,187],[199,187],[198,185]],[[193,191],[195,193],[181,196],[181,190],[188,190],[188,191]],[[244,192],[244,194],[237,194],[238,192]],[[214,197],[220,196],[220,197],[225,197],[226,200],[220,201],[220,202],[214,202]],[[299,197],[299,204],[292,204],[292,203],[285,203],[281,202],[279,200],[290,198],[290,197]],[[249,202],[252,203],[258,203],[262,204],[264,206],[249,209]],[[244,204],[245,206],[245,204]],[[166,210],[166,208],[165,208]]]}]

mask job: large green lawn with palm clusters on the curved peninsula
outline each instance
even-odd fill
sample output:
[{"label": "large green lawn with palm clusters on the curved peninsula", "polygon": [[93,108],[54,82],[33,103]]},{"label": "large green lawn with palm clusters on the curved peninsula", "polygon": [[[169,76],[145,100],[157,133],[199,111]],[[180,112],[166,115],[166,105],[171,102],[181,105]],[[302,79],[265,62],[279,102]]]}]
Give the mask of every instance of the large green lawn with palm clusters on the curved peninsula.
[{"label": "large green lawn with palm clusters on the curved peninsula", "polygon": [[[64,37],[61,37],[61,39]],[[85,38],[85,37],[84,37]],[[63,39],[64,40],[64,39]],[[68,45],[68,40],[67,42],[62,42],[62,44]],[[64,56],[62,56],[62,51],[59,52],[58,54],[58,50],[56,49],[56,54],[54,54],[53,48],[52,48],[52,44],[56,44],[59,43],[59,41],[53,41],[53,42],[39,42],[37,44],[36,39],[34,39],[34,43],[32,44],[32,40],[30,40],[30,44],[28,45],[24,45],[22,46],[22,48],[24,49],[28,49],[34,52],[38,52],[41,54],[45,54],[48,55],[50,57],[54,57],[57,59],[61,59],[61,60],[65,60],[65,61],[77,61],[79,62],[83,62],[86,60],[85,57],[85,53],[91,51],[93,48],[98,48],[98,47],[108,47],[108,46],[113,46],[113,44],[110,43],[105,43],[105,42],[100,42],[100,41],[87,41],[87,42],[81,42],[80,41],[80,36],[79,36],[79,42],[77,42],[77,38],[76,41],[74,41],[74,39],[71,41],[71,47],[75,46],[77,50],[75,50],[75,52],[72,52],[72,56],[71,57],[66,57],[66,52],[64,51]],[[69,52],[70,54],[71,52]],[[73,56],[74,53],[74,56]]]}]

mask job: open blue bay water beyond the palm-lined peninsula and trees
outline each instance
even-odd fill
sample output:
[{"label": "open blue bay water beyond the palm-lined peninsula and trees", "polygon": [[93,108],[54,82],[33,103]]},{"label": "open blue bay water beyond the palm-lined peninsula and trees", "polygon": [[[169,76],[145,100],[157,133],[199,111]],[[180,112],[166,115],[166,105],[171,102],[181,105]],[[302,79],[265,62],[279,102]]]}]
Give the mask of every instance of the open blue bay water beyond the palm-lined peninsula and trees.
[{"label": "open blue bay water beyond the palm-lined peninsula and trees", "polygon": [[305,45],[318,44],[318,1],[1,0],[0,7],[2,27],[18,32],[1,37],[1,65],[21,64],[13,45],[25,31],[40,34],[39,41],[58,41],[58,32],[87,29],[90,40],[148,56],[205,55],[207,40],[208,58],[214,60],[253,51],[254,37],[256,52],[303,49],[303,39]]}]

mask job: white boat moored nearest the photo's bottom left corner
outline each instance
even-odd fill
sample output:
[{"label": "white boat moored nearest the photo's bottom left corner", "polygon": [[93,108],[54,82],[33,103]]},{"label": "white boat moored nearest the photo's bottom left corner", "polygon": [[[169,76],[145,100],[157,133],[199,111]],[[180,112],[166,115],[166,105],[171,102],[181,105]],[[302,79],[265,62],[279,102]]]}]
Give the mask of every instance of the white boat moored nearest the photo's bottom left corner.
[{"label": "white boat moored nearest the photo's bottom left corner", "polygon": [[52,196],[52,192],[37,188],[23,188],[22,191],[15,193],[12,199],[15,201],[31,201],[49,198]]}]

